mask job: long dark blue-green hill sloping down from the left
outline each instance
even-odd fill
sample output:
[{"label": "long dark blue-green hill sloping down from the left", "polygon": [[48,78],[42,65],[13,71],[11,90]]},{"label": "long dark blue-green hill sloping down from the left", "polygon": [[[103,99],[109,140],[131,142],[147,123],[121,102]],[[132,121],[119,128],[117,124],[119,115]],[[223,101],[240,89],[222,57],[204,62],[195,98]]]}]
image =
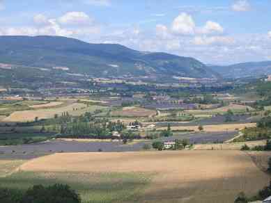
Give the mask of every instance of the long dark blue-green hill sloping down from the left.
[{"label": "long dark blue-green hill sloping down from the left", "polygon": [[194,58],[136,51],[120,44],[89,44],[55,36],[0,36],[0,63],[100,77],[149,74],[195,78],[218,76]]}]

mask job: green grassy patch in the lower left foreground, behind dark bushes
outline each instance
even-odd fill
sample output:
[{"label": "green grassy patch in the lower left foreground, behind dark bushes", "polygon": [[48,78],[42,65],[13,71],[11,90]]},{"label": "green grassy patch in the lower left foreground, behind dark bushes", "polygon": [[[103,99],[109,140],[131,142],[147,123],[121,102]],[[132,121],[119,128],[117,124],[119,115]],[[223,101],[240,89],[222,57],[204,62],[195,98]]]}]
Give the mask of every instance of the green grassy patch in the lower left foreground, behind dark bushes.
[{"label": "green grassy patch in the lower left foreground, behind dark bushes", "polygon": [[26,190],[34,184],[68,184],[83,202],[107,203],[134,200],[149,181],[140,173],[16,172],[0,178],[0,187]]}]

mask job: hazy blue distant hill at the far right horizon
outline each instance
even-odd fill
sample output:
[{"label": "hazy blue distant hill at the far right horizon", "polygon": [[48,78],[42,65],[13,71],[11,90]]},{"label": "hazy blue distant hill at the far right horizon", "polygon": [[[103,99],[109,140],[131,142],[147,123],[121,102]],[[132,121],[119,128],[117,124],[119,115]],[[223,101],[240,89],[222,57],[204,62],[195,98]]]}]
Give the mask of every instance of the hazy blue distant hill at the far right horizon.
[{"label": "hazy blue distant hill at the far right horizon", "polygon": [[271,61],[238,63],[227,66],[210,65],[209,67],[227,78],[245,76],[261,77],[266,74],[271,74]]}]

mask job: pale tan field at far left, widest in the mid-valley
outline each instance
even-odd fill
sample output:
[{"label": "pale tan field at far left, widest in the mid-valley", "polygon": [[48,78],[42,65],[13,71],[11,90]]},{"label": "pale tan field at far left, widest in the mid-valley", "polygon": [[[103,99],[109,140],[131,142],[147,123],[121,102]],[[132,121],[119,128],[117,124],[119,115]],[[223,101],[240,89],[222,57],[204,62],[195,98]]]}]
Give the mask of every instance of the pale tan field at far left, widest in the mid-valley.
[{"label": "pale tan field at far left, widest in the mid-valley", "polygon": [[70,104],[60,108],[47,108],[31,111],[15,111],[10,116],[4,118],[3,122],[27,122],[38,119],[48,119],[54,117],[55,114],[61,115],[63,112],[68,112],[70,115],[82,115],[86,112],[93,112],[97,109],[103,109],[104,106],[87,106],[86,104]]}]

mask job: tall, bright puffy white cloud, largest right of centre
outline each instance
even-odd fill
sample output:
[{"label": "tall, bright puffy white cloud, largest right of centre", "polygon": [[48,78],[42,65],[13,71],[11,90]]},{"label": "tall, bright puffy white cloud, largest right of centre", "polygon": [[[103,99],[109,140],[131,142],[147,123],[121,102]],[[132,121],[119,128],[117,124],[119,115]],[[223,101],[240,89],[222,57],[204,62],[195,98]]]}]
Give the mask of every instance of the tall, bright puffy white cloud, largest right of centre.
[{"label": "tall, bright puffy white cloud, largest right of centre", "polygon": [[191,35],[194,34],[195,27],[192,16],[187,13],[181,13],[173,20],[171,29],[176,34]]}]

